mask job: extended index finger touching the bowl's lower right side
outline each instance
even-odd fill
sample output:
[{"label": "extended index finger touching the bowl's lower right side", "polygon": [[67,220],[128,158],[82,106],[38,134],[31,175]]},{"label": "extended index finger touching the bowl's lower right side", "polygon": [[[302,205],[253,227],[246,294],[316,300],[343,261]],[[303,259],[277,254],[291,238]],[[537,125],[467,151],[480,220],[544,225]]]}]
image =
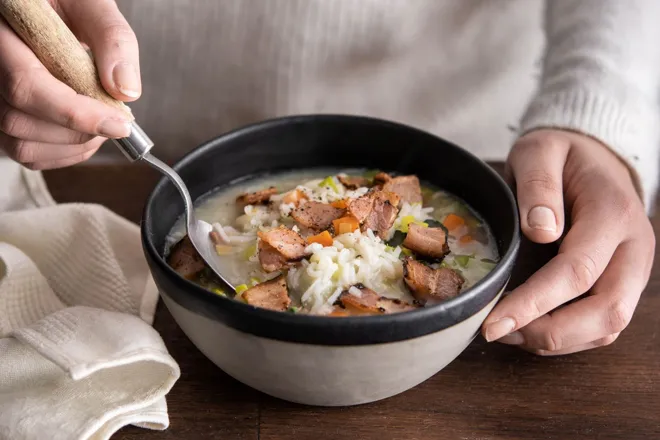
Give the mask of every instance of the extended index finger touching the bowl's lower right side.
[{"label": "extended index finger touching the bowl's lower right side", "polygon": [[613,215],[613,206],[590,201],[576,211],[558,255],[504,297],[486,318],[486,340],[524,327],[594,285],[625,236],[625,226]]}]

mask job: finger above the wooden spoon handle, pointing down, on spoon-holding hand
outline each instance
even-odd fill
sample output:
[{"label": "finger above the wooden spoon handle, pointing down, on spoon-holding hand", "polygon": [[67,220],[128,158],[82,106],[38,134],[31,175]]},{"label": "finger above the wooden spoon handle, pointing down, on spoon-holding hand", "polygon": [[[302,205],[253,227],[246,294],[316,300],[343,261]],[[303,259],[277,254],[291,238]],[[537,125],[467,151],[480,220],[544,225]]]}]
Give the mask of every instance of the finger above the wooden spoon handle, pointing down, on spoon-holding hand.
[{"label": "finger above the wooden spoon handle, pointing down, on spoon-holding hand", "polygon": [[114,0],[60,0],[72,30],[94,54],[103,88],[120,101],[142,93],[137,38]]}]

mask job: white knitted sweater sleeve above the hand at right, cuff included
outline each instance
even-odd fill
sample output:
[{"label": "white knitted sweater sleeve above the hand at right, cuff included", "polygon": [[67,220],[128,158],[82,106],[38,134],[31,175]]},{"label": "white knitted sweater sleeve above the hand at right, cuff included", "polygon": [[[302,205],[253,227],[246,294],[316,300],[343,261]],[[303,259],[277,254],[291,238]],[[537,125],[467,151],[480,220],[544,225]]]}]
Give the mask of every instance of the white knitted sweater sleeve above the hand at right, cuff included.
[{"label": "white knitted sweater sleeve above the hand at right, cuff included", "polygon": [[647,211],[658,188],[660,1],[546,0],[539,90],[522,132],[592,136],[630,168]]}]

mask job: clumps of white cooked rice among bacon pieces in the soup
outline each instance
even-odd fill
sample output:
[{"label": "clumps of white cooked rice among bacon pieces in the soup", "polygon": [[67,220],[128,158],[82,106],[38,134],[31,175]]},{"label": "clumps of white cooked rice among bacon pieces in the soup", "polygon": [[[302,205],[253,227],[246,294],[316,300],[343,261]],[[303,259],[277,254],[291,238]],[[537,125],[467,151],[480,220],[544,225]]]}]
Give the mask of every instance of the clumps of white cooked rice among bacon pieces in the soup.
[{"label": "clumps of white cooked rice among bacon pieces in the soup", "polygon": [[[298,185],[296,189],[302,191],[308,200],[321,203],[361,197],[368,191],[367,188],[347,190],[334,177],[334,186],[323,186],[323,181],[310,180]],[[278,194],[271,197],[273,205],[270,207],[246,206],[244,214],[236,222],[243,232],[225,226],[221,236],[227,237],[227,241],[232,244],[240,245],[256,241],[256,232],[259,230],[268,230],[286,223],[295,205],[282,203],[284,196]],[[432,212],[433,208],[423,208],[421,204],[404,203],[389,236],[401,226],[403,218],[409,217],[421,222],[431,218]],[[295,225],[293,228],[298,229]],[[339,295],[356,284],[363,284],[388,298],[412,301],[402,279],[403,264],[399,259],[401,248],[387,246],[371,230],[339,235],[334,238],[333,245],[328,247],[311,244],[307,251],[311,254],[309,261],[303,260],[299,267],[292,268],[287,281],[290,292],[300,292],[300,296],[293,299],[311,313],[328,313]],[[247,260],[258,265],[258,254],[255,252],[249,255]],[[359,289],[355,287],[352,293],[360,295]]]}]

